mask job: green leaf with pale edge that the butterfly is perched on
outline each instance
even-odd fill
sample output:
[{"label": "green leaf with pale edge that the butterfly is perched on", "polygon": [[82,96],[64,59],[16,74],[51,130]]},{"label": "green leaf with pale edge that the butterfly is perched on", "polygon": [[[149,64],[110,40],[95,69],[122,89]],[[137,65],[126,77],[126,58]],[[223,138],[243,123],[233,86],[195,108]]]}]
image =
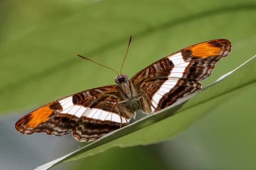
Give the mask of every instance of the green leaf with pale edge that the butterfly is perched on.
[{"label": "green leaf with pale edge that the butterfly is perched on", "polygon": [[[256,71],[255,58],[256,56],[232,72],[223,75],[213,84],[186,96],[172,106],[142,118],[122,129],[113,131],[73,153],[38,167],[36,170],[47,170],[70,158],[73,158],[73,160],[85,158],[111,147],[147,145],[172,138],[197,121],[198,118],[206,115],[210,109],[218,104],[223,104],[228,98],[232,97],[232,92],[253,84],[256,81],[256,76],[249,73]],[[247,76],[246,80],[242,79],[244,76]],[[195,94],[198,95],[192,98]],[[189,100],[190,98],[192,99]],[[175,115],[173,115],[174,112]]]}]

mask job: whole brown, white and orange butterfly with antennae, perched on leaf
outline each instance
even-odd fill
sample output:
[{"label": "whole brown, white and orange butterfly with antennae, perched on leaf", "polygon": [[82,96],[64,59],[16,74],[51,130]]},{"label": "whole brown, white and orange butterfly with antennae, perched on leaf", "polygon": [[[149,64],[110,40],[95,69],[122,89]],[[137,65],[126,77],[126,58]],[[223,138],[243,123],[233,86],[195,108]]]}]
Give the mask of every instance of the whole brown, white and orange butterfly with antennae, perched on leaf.
[{"label": "whole brown, white and orange butterfly with antennae, perched on leaf", "polygon": [[131,79],[122,71],[120,75],[116,72],[116,85],[88,89],[52,101],[20,118],[15,128],[24,134],[72,133],[78,141],[95,141],[128,125],[137,110],[151,114],[201,89],[198,81],[209,77],[217,61],[230,50],[228,40],[209,40],[167,55]]}]

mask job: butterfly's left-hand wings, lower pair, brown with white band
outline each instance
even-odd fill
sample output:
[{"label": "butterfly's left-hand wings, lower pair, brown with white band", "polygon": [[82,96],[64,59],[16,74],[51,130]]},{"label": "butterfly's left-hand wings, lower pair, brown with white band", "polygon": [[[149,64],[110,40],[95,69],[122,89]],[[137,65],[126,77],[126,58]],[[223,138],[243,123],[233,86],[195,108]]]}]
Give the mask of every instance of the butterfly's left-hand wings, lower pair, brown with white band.
[{"label": "butterfly's left-hand wings, lower pair, brown with white band", "polygon": [[73,132],[79,141],[93,141],[126,126],[135,116],[118,107],[119,100],[115,85],[85,90],[30,112],[17,121],[15,128],[24,134],[61,136]]}]

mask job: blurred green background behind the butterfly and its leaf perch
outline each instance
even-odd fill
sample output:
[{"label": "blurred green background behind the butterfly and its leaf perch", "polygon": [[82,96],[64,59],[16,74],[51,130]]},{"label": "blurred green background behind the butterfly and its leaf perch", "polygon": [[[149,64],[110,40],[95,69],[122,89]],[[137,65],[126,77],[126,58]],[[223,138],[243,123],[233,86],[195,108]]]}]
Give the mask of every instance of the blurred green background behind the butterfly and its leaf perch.
[{"label": "blurred green background behind the butterfly and its leaf perch", "polygon": [[[255,0],[1,0],[0,169],[34,169],[85,145],[71,135],[22,135],[14,128],[47,102],[114,84],[114,72],[76,54],[118,71],[133,35],[122,71],[131,78],[186,46],[228,39],[232,52],[206,86],[256,55],[255,27]],[[255,84],[233,92],[170,141],[115,147],[52,169],[254,170],[255,96]]]}]

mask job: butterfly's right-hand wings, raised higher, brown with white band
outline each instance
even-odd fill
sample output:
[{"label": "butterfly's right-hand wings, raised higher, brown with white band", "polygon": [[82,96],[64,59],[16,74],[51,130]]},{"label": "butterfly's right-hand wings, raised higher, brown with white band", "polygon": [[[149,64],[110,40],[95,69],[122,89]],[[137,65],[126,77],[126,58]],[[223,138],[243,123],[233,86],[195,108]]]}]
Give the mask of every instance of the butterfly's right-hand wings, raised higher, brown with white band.
[{"label": "butterfly's right-hand wings, raised higher, brown with white band", "polygon": [[[198,81],[209,77],[215,64],[230,50],[230,41],[224,39],[198,43],[152,63],[131,81],[146,93],[157,110],[163,109],[201,89]],[[154,107],[151,112],[156,111]]]}]

